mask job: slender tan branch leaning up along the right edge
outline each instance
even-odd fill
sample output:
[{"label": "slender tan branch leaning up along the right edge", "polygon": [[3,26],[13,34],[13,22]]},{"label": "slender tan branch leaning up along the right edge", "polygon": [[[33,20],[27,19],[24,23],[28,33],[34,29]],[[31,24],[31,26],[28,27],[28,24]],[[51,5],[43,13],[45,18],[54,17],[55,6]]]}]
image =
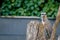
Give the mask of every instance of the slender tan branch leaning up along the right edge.
[{"label": "slender tan branch leaning up along the right edge", "polygon": [[60,6],[59,6],[58,14],[57,14],[57,17],[56,17],[56,21],[53,24],[53,28],[52,28],[53,30],[52,30],[50,40],[55,40],[55,38],[56,38],[56,28],[57,28],[57,25],[58,25],[59,22],[60,22]]}]

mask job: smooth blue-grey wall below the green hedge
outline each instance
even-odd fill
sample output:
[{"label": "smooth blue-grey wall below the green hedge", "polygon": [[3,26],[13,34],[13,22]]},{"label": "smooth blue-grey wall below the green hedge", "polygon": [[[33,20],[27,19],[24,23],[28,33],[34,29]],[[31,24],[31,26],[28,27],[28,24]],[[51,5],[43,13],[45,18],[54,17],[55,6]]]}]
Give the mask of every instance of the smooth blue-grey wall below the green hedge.
[{"label": "smooth blue-grey wall below the green hedge", "polygon": [[[27,23],[31,20],[40,21],[40,19],[0,18],[0,40],[25,40]],[[54,20],[50,21],[54,23]],[[60,27],[57,29],[57,35],[60,35],[59,29]]]}]

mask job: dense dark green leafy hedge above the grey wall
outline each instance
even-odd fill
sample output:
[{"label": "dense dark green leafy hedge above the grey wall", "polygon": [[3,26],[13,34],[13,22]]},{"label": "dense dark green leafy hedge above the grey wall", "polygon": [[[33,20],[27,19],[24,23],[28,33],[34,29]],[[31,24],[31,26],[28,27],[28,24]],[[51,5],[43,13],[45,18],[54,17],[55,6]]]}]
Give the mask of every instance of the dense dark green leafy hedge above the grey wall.
[{"label": "dense dark green leafy hedge above the grey wall", "polygon": [[3,0],[0,7],[1,16],[40,16],[46,12],[48,17],[55,18],[59,0]]}]

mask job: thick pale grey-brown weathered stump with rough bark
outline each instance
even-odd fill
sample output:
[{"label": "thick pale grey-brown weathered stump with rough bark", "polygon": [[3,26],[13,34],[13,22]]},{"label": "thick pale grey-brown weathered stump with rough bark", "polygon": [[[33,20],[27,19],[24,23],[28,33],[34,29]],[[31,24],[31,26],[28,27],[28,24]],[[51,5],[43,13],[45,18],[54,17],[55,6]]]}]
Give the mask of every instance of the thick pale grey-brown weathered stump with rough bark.
[{"label": "thick pale grey-brown weathered stump with rough bark", "polygon": [[27,25],[26,40],[36,40],[39,21],[30,21]]}]

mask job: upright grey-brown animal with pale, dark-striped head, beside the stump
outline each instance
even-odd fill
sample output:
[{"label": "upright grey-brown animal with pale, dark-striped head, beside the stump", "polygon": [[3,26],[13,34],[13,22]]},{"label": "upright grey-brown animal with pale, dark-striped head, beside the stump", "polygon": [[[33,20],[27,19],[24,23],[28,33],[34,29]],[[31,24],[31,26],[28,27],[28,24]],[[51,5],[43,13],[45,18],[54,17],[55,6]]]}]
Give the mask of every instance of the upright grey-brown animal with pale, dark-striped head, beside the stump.
[{"label": "upright grey-brown animal with pale, dark-striped head, beside the stump", "polygon": [[52,24],[48,20],[46,13],[44,13],[44,15],[43,15],[43,22],[42,23],[44,25],[45,39],[49,40],[51,37],[51,33],[52,33]]}]

